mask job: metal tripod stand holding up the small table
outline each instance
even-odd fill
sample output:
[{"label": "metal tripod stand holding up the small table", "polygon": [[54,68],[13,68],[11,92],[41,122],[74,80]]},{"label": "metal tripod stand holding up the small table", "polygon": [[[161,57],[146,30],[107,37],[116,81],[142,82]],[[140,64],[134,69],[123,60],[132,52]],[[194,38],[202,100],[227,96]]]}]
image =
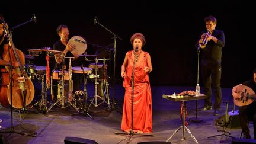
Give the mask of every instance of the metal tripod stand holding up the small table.
[{"label": "metal tripod stand holding up the small table", "polygon": [[188,129],[187,126],[185,126],[185,110],[186,110],[186,101],[183,101],[183,125],[178,127],[178,129],[175,130],[174,133],[172,133],[171,137],[169,137],[169,139],[166,140],[166,142],[168,142],[169,140],[171,140],[171,138],[175,135],[175,133],[177,133],[181,128],[183,128],[183,135],[182,135],[182,139],[181,141],[185,141],[185,129],[187,130],[187,132],[190,134],[190,136],[192,137],[192,139],[194,140],[194,142],[198,143],[196,140],[196,137],[194,137],[192,135],[192,133],[190,132],[190,130]]}]

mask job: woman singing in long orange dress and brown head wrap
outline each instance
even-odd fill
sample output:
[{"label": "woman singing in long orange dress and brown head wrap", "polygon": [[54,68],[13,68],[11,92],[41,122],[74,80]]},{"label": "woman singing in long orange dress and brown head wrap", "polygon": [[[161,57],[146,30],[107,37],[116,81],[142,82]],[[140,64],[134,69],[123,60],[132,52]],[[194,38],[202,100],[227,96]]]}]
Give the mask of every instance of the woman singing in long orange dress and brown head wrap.
[{"label": "woman singing in long orange dress and brown head wrap", "polygon": [[[130,38],[133,50],[126,53],[121,66],[121,77],[124,78],[125,88],[123,117],[121,129],[129,133],[152,132],[152,94],[149,82],[149,73],[152,71],[151,57],[148,52],[142,50],[146,40],[143,34],[135,33]],[[136,55],[135,55],[136,52]],[[132,94],[133,62],[135,60],[134,72],[134,94]],[[133,98],[133,105],[132,105]],[[133,106],[133,127],[132,126]]]}]

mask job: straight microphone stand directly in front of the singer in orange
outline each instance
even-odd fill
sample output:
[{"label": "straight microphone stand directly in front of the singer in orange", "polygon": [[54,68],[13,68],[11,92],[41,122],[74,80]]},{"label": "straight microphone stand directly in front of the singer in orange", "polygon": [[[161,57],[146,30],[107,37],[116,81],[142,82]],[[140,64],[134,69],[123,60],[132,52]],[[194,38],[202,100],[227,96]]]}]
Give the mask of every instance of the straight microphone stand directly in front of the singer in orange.
[{"label": "straight microphone stand directly in front of the singer in orange", "polygon": [[[135,50],[135,56],[136,56],[136,50]],[[130,139],[132,138],[133,135],[141,135],[141,136],[153,136],[153,135],[149,135],[149,134],[143,134],[143,133],[134,133],[133,132],[133,98],[134,98],[134,73],[135,73],[135,57],[133,60],[133,73],[132,73],[132,120],[131,120],[131,129],[129,133],[115,133],[116,135],[130,135],[129,137],[129,142]],[[127,142],[127,143],[129,143]]]}]

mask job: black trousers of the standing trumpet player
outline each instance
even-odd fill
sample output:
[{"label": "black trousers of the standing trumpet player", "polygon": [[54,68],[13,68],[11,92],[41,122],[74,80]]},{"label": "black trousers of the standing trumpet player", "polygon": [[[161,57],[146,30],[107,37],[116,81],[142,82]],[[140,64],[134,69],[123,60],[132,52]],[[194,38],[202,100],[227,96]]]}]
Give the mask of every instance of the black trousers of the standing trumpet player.
[{"label": "black trousers of the standing trumpet player", "polygon": [[212,89],[215,96],[214,109],[219,109],[220,104],[222,103],[222,91],[220,87],[221,79],[221,66],[215,64],[201,64],[201,75],[204,82],[204,93],[207,95],[207,98],[204,99],[205,106],[212,106]]}]

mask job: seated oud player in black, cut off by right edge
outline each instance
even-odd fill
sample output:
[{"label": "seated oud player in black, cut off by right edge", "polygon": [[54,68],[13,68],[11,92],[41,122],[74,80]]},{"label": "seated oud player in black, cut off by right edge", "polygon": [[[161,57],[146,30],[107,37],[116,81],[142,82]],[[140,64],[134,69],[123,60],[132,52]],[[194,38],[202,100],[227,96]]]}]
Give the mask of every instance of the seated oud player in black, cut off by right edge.
[{"label": "seated oud player in black, cut off by right edge", "polygon": [[[253,71],[253,79],[246,81],[239,85],[246,85],[251,88],[254,93],[256,91],[256,69]],[[241,95],[238,94],[236,89],[239,85],[236,85],[232,89],[233,98],[236,100],[241,98]],[[239,107],[239,120],[242,127],[242,133],[244,134],[245,139],[251,139],[250,131],[249,131],[249,120],[253,121],[254,127],[254,139],[256,139],[256,101],[253,101],[251,104],[244,105]]]}]

